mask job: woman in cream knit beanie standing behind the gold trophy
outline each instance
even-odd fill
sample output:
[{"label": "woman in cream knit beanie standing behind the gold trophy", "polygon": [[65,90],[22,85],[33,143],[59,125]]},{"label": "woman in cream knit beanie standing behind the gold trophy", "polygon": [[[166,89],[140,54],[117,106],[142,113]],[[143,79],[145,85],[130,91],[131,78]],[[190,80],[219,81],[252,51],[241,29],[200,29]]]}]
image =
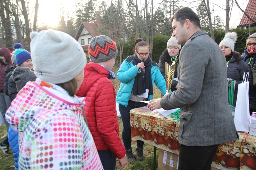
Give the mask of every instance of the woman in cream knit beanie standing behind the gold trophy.
[{"label": "woman in cream knit beanie standing behind the gold trophy", "polygon": [[[176,62],[180,56],[180,50],[181,50],[181,45],[177,44],[177,40],[175,37],[171,37],[168,42],[167,42],[167,49],[163,51],[162,55],[159,58],[159,70],[163,77],[166,80],[166,74],[165,74],[165,63],[168,63],[170,66],[172,65],[173,62]],[[174,71],[174,77],[177,78],[177,66],[175,66],[175,71]],[[179,82],[176,80],[172,80],[171,84],[171,90],[175,91],[179,88]],[[161,94],[162,96],[164,94]]]}]

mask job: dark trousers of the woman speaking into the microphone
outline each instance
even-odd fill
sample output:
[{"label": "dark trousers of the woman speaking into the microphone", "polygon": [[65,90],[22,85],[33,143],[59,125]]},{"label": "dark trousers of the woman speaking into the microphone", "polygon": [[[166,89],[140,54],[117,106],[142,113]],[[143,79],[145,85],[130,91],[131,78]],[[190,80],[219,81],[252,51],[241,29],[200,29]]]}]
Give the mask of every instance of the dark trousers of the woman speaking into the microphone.
[{"label": "dark trousers of the woman speaking into the microphone", "polygon": [[[123,121],[123,132],[122,138],[124,142],[125,149],[131,149],[131,125],[130,125],[130,110],[133,108],[146,106],[146,103],[143,102],[134,102],[129,100],[127,107],[119,104],[119,111]],[[142,148],[144,142],[137,140],[137,147]]]}]

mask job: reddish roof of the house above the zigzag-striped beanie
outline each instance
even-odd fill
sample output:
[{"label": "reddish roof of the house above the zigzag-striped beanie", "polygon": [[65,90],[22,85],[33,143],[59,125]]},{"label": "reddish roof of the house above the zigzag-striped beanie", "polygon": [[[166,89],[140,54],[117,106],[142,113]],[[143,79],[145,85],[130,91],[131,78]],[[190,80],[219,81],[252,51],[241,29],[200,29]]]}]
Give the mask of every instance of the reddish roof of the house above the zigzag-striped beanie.
[{"label": "reddish roof of the house above the zigzag-striped beanie", "polygon": [[86,28],[88,32],[91,34],[92,37],[100,36],[101,34],[98,32],[99,31],[99,22],[95,23],[89,23],[89,22],[82,22],[76,35],[75,39],[78,40],[79,36],[81,35],[81,32],[83,28]]}]

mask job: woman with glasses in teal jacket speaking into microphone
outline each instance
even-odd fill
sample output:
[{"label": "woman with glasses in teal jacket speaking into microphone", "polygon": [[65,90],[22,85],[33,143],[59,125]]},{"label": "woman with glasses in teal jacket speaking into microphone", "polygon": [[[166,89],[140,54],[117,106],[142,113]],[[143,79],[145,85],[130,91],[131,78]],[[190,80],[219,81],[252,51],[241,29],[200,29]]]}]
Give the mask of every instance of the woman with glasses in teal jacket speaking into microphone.
[{"label": "woman with glasses in teal jacket speaking into microphone", "polygon": [[[117,79],[121,82],[116,101],[123,121],[122,138],[128,161],[135,160],[131,148],[130,110],[147,104],[141,101],[153,99],[153,84],[165,94],[166,82],[158,69],[158,64],[152,62],[148,44],[141,38],[135,41],[135,53],[128,56],[117,71]],[[143,127],[142,127],[143,128]],[[143,160],[144,142],[137,140],[137,160]]]}]

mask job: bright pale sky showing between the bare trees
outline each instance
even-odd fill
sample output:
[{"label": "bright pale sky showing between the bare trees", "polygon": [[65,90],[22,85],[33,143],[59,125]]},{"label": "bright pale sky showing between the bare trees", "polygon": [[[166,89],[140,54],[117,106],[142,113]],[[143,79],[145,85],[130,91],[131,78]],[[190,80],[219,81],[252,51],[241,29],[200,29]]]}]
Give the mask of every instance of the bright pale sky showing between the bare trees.
[{"label": "bright pale sky showing between the bare trees", "polygon": [[[39,0],[39,9],[38,9],[38,24],[45,24],[48,26],[57,26],[59,21],[59,16],[61,11],[65,12],[65,16],[69,15],[75,18],[75,2],[79,0]],[[110,4],[111,0],[105,0],[107,4]],[[114,0],[113,0],[114,1]],[[141,2],[139,2],[141,1]],[[186,2],[185,2],[186,1]],[[190,7],[196,12],[196,6],[200,3],[200,1],[196,0],[180,0],[179,5],[183,5],[184,7]],[[237,0],[242,10],[245,10],[246,5],[249,0]],[[31,1],[30,1],[31,2]],[[83,1],[86,3],[86,1]],[[101,1],[100,1],[101,2]],[[100,3],[99,2],[99,3]],[[138,4],[144,4],[144,0],[138,0]],[[155,9],[161,3],[161,0],[153,1]],[[210,8],[214,9],[214,13],[212,15],[218,15],[221,19],[226,21],[226,12],[225,12],[225,0],[210,0]],[[231,1],[230,1],[231,5]],[[33,6],[33,4],[31,5]],[[236,28],[239,25],[239,22],[243,16],[243,12],[237,7],[234,2],[231,17],[230,17],[230,28]]]}]

